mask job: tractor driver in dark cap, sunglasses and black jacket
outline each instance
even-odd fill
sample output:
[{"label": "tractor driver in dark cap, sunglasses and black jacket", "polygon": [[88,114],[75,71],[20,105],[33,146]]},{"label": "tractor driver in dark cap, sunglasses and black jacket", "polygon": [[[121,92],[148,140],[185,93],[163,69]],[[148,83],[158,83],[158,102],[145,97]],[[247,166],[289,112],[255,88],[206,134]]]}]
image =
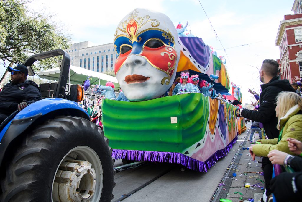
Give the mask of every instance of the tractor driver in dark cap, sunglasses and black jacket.
[{"label": "tractor driver in dark cap, sunglasses and black jacket", "polygon": [[42,99],[38,85],[27,80],[27,67],[8,67],[8,71],[11,72],[11,82],[5,84],[0,92],[0,124],[17,109],[21,111],[28,104]]}]

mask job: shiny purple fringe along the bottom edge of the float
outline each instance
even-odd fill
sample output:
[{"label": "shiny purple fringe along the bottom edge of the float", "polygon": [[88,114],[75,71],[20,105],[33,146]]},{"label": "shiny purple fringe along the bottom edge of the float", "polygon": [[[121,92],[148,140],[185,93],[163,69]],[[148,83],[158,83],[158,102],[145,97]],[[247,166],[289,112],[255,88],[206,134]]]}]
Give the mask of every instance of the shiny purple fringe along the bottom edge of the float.
[{"label": "shiny purple fringe along the bottom edge of the float", "polygon": [[227,152],[229,152],[230,149],[233,148],[233,144],[236,143],[237,139],[238,137],[236,136],[224,149],[216,151],[204,162],[188,157],[185,154],[164,151],[137,151],[113,149],[112,157],[114,159],[124,159],[127,157],[128,160],[135,161],[177,163],[182,164],[188,169],[194,171],[207,172],[207,169],[210,169],[219,158],[226,156]]}]

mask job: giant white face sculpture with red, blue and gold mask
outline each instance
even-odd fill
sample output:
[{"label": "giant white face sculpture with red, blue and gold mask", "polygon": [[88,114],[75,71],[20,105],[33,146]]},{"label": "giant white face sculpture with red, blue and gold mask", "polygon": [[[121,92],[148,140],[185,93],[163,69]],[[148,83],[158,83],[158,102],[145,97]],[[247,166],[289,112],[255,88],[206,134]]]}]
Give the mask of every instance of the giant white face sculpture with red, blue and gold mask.
[{"label": "giant white face sculpture with red, blue and gold mask", "polygon": [[136,8],[118,24],[114,48],[116,78],[130,101],[159,98],[173,84],[180,47],[166,15]]}]

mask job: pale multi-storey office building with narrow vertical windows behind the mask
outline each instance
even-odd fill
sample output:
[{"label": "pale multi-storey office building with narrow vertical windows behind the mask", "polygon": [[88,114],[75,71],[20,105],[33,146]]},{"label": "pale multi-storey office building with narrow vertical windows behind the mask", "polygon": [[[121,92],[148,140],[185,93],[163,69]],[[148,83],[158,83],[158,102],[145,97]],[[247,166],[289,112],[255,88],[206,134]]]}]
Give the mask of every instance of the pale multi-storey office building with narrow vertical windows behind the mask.
[{"label": "pale multi-storey office building with narrow vertical windows behind the mask", "polygon": [[71,59],[71,65],[104,73],[114,70],[117,54],[113,43],[94,46],[90,41],[71,44],[65,50]]}]

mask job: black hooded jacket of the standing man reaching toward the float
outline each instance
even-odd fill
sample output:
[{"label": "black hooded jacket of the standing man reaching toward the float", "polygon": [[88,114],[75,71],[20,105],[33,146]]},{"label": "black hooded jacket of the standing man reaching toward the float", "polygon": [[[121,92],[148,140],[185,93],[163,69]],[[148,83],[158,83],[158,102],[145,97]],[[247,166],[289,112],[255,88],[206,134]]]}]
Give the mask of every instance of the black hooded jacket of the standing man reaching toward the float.
[{"label": "black hooded jacket of the standing man reaching toward the float", "polygon": [[276,102],[276,97],[281,91],[295,92],[295,90],[288,80],[279,80],[278,77],[272,78],[267,84],[262,84],[261,89],[259,110],[244,109],[241,115],[252,121],[262,123],[265,134],[269,139],[278,138],[279,131],[276,128],[278,118],[276,117],[274,102]]}]

